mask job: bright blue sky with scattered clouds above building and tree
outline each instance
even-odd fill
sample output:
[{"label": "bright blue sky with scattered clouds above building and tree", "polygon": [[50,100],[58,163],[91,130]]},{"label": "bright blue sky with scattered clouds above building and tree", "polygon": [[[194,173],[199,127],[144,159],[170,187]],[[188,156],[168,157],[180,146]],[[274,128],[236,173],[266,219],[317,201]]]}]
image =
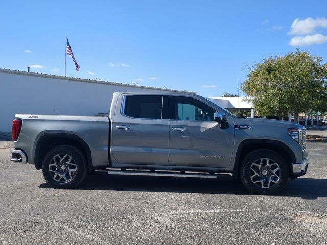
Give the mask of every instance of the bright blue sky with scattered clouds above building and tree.
[{"label": "bright blue sky with scattered clouds above building and tree", "polygon": [[321,0],[5,0],[0,68],[63,75],[67,33],[81,67],[67,56],[67,76],[237,93],[246,65],[270,55],[300,46],[326,62],[326,10]]}]

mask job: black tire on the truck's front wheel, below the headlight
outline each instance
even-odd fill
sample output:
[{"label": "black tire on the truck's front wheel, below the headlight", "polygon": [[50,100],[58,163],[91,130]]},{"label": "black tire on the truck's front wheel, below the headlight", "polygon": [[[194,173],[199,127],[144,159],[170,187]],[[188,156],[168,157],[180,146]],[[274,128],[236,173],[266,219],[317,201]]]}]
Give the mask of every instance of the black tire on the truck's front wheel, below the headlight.
[{"label": "black tire on the truck's front wheel, below the headlight", "polygon": [[[265,171],[265,168],[260,169],[258,166],[252,165],[254,163],[258,164],[261,161],[261,159],[264,158],[269,159],[270,162],[269,164],[272,164],[273,162],[277,163],[277,166],[279,166],[279,170],[276,172],[276,175],[274,175],[273,172],[269,170],[269,167],[268,167],[268,171]],[[263,165],[265,164],[265,161],[267,162],[267,160],[263,160]],[[258,171],[256,171],[257,174],[259,174],[259,176],[255,174],[255,171],[251,170],[251,165],[252,168],[254,168],[255,170],[259,169]],[[277,166],[274,165],[271,168],[277,169]],[[264,171],[261,171],[262,169]],[[287,163],[285,162],[285,159],[278,153],[271,150],[255,150],[253,152],[250,152],[243,159],[240,168],[240,178],[243,185],[252,193],[260,194],[260,195],[271,195],[282,191],[286,186],[288,175],[289,175],[289,170],[288,170]],[[251,180],[251,176],[254,176],[253,181]],[[274,178],[273,180],[277,181],[277,183],[270,182],[269,176],[271,178]],[[279,179],[277,178],[277,176],[279,177]],[[267,180],[265,180],[265,178],[267,178]],[[268,182],[270,182],[270,184],[272,183],[271,186],[269,186],[269,188],[268,188]],[[265,188],[263,188],[263,186]]]}]

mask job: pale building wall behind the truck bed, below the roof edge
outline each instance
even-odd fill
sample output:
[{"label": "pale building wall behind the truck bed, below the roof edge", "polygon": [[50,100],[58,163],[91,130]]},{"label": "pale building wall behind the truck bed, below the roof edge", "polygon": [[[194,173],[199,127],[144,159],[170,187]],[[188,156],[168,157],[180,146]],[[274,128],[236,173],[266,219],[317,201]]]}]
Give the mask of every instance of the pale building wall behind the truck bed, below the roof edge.
[{"label": "pale building wall behind the truck bed, below the roof edge", "polygon": [[109,113],[114,92],[173,91],[0,69],[0,131],[15,114],[94,116]]}]

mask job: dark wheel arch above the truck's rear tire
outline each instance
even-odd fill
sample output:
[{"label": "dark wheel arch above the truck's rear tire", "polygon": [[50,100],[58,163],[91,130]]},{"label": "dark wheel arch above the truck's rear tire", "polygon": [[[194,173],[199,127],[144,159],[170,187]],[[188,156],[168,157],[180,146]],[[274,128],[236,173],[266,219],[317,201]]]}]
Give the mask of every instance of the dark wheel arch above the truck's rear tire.
[{"label": "dark wheel arch above the truck's rear tire", "polygon": [[92,155],[88,144],[78,135],[70,133],[44,133],[38,138],[34,152],[34,164],[37,170],[42,168],[46,153],[58,145],[77,147],[86,157],[88,172],[93,170]]}]

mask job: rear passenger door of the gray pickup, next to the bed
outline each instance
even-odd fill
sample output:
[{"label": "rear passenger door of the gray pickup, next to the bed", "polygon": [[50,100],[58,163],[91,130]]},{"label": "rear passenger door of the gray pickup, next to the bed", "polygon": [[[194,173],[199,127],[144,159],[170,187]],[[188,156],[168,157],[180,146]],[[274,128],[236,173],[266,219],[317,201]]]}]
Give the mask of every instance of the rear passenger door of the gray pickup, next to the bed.
[{"label": "rear passenger door of the gray pickup, next to the bed", "polygon": [[112,124],[113,160],[120,164],[168,165],[169,121],[162,111],[164,96],[125,94],[118,105],[122,107],[116,108]]}]

